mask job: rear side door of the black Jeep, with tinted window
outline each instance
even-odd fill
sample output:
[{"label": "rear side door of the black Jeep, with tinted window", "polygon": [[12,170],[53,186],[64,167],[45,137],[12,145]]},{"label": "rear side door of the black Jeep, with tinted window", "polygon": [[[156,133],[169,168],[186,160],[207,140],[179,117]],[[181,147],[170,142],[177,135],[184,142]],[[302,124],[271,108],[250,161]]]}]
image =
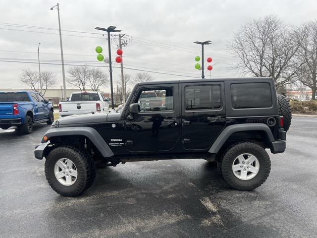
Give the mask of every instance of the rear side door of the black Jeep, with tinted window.
[{"label": "rear side door of the black Jeep, with tinted window", "polygon": [[182,142],[207,150],[226,123],[223,82],[182,83]]}]

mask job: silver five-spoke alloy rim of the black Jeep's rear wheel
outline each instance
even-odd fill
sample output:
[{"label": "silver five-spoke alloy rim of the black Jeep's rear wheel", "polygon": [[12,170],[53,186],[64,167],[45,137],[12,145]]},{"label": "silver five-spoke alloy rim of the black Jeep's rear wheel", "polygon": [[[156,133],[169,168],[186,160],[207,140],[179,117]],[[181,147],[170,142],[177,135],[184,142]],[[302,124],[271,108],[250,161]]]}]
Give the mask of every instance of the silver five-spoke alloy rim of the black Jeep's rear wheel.
[{"label": "silver five-spoke alloy rim of the black Jeep's rear wheel", "polygon": [[257,157],[244,153],[235,158],[232,164],[232,171],[235,177],[241,180],[249,180],[255,177],[260,168]]}]

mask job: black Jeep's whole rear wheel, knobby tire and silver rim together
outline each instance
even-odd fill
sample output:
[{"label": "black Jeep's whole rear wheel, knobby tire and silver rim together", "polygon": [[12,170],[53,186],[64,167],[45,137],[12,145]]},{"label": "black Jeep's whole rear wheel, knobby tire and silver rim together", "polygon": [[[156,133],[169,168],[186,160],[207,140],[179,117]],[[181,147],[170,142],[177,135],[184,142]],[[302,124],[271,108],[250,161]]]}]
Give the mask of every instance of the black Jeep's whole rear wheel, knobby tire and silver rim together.
[{"label": "black Jeep's whole rear wheel, knobby tire and silver rim together", "polygon": [[271,168],[268,154],[253,142],[240,142],[229,147],[221,159],[221,173],[229,186],[252,190],[267,179]]}]

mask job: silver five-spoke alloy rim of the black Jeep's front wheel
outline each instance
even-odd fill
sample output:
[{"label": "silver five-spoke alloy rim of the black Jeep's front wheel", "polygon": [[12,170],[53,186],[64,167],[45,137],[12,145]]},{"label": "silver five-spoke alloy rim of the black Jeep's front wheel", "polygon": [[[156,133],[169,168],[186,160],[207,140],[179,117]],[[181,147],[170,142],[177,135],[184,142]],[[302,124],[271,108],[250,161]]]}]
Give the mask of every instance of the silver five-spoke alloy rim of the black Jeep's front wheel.
[{"label": "silver five-spoke alloy rim of the black Jeep's front wheel", "polygon": [[56,179],[65,186],[70,186],[76,182],[77,169],[74,163],[66,158],[59,159],[54,166]]}]

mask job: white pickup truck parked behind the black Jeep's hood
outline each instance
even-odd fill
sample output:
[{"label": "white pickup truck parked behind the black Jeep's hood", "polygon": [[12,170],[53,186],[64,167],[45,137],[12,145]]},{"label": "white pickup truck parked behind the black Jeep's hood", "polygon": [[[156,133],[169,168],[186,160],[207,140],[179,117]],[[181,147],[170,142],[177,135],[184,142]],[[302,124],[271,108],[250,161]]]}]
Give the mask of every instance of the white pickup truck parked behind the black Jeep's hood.
[{"label": "white pickup truck parked behind the black Jeep's hood", "polygon": [[100,92],[72,92],[68,101],[59,102],[58,109],[59,116],[66,117],[74,114],[108,111],[109,104]]}]

